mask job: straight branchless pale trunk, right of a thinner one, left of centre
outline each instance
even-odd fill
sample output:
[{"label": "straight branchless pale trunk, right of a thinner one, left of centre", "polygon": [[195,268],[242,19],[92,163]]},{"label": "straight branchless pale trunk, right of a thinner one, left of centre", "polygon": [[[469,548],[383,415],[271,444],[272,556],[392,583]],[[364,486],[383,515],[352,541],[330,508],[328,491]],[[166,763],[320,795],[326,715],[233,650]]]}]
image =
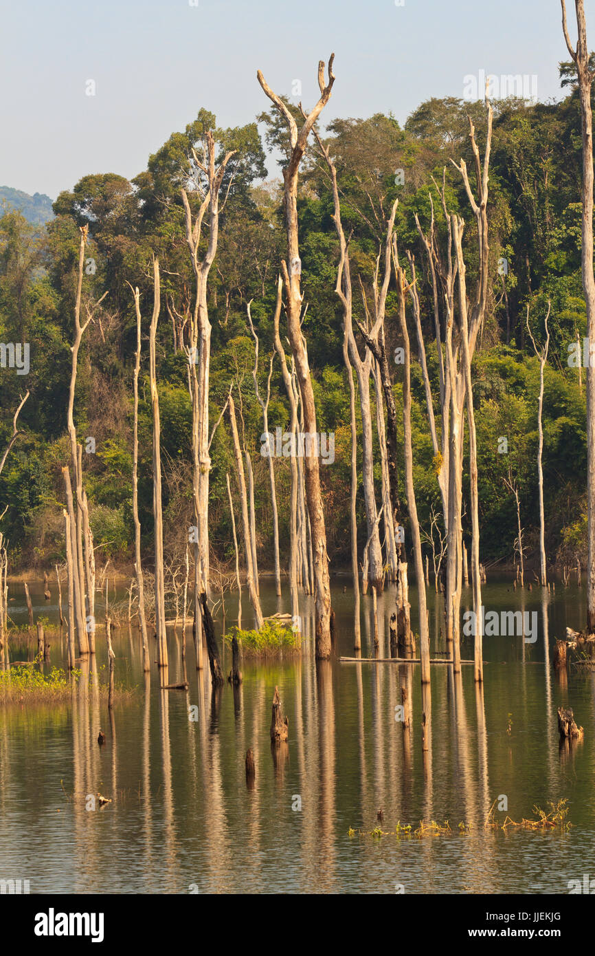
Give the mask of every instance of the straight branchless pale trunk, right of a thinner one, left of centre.
[{"label": "straight branchless pale trunk, right of a thinner one, left of centre", "polygon": [[163,574],[163,511],[161,505],[161,427],[159,420],[159,394],[155,338],[159,319],[160,283],[159,259],[153,260],[153,315],[149,334],[149,379],[151,406],[153,409],[153,514],[155,517],[155,630],[157,636],[157,663],[167,667],[167,633],[165,629],[165,581]]}]

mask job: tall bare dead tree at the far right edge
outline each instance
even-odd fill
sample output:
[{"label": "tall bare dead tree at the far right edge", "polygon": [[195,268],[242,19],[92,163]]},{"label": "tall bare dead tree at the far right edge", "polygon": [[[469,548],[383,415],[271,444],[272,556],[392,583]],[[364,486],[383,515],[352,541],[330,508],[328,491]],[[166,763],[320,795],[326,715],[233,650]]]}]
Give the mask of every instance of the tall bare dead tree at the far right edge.
[{"label": "tall bare dead tree at the far right edge", "polygon": [[[576,50],[570,42],[566,7],[562,0],[563,34],[568,53],[577,68],[583,129],[583,205],[581,262],[586,303],[586,336],[589,349],[595,343],[595,273],[593,272],[593,115],[591,85],[595,73],[589,67],[584,0],[574,2],[578,27]],[[590,354],[590,352],[589,352]],[[586,499],[588,554],[586,561],[586,633],[595,634],[595,364],[586,369]]]}]

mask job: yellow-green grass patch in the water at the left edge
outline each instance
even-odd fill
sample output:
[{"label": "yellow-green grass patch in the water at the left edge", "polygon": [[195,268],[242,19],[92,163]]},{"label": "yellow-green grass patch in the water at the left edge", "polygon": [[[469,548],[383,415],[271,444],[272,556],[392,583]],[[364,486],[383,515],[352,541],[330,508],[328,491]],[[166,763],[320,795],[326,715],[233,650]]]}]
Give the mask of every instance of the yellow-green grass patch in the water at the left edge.
[{"label": "yellow-green grass patch in the water at the left edge", "polygon": [[[69,701],[74,689],[85,683],[100,698],[108,695],[107,684],[100,684],[96,675],[85,679],[80,670],[74,668],[67,674],[60,667],[53,667],[44,674],[35,663],[0,670],[0,704],[59,704]],[[115,696],[122,698],[130,694],[130,688],[117,687]]]}]

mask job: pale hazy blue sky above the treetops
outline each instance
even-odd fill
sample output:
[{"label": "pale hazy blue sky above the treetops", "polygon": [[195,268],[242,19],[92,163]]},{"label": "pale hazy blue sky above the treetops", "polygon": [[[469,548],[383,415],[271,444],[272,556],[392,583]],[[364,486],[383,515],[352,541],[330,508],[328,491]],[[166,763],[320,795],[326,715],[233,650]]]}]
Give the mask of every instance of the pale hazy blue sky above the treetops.
[{"label": "pale hazy blue sky above the treetops", "polygon": [[[0,185],[53,199],[87,173],[133,177],[205,106],[222,126],[269,105],[293,80],[317,98],[335,53],[324,120],[463,94],[463,77],[538,77],[559,98],[567,59],[560,0],[0,0]],[[574,38],[574,3],[567,0]],[[595,47],[595,0],[585,3]],[[87,81],[96,96],[86,95]]]}]

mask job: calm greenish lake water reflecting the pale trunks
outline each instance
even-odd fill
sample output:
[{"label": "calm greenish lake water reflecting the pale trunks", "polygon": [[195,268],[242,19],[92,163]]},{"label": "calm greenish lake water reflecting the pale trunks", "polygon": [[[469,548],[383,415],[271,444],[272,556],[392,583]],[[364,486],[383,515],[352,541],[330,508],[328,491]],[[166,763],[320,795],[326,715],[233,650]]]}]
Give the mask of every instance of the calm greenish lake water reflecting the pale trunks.
[{"label": "calm greenish lake water reflecting the pale trunks", "polygon": [[[352,655],[349,580],[346,594],[341,578],[332,593],[341,655]],[[48,602],[42,587],[31,590],[35,616],[55,620],[54,585]],[[26,622],[22,586],[12,585],[10,595],[11,618]],[[266,584],[262,595],[265,614],[287,610],[287,596],[278,604]],[[466,589],[464,606],[470,598]],[[429,599],[435,656],[444,650],[441,598],[430,592]],[[234,597],[226,603],[229,623]],[[246,603],[244,594],[244,626]],[[536,611],[538,640],[486,638],[482,694],[473,667],[464,666],[459,680],[449,666],[432,668],[427,753],[418,665],[335,658],[316,668],[307,597],[302,658],[244,663],[235,693],[228,684],[212,693],[208,666],[196,671],[190,633],[186,693],[161,690],[157,669],[145,681],[138,632],[116,630],[117,682],[136,689],[117,703],[112,722],[93,691],[53,708],[0,709],[0,879],[28,879],[32,893],[394,893],[400,883],[406,893],[538,894],[566,893],[568,880],[595,877],[595,675],[571,669],[566,681],[549,663],[565,625],[584,626],[584,590],[559,585],[548,598],[537,588],[520,595],[509,583],[489,583],[483,603],[486,610]],[[363,654],[372,657],[371,599],[362,604]],[[389,656],[392,609],[389,592],[378,605],[381,657]],[[413,614],[416,626],[415,608]],[[473,657],[472,640],[463,643],[463,658]],[[52,663],[62,665],[64,641],[50,641]],[[97,647],[90,666],[104,681],[101,633]],[[11,656],[26,654],[20,646]],[[179,681],[181,626],[170,632],[169,654],[168,680]],[[224,666],[228,671],[228,650]],[[403,677],[410,732],[394,719]],[[276,684],[289,720],[281,751],[271,751],[269,739]],[[585,731],[570,751],[559,749],[561,704],[574,707]],[[190,706],[198,707],[196,721]],[[107,735],[101,750],[99,728]],[[253,790],[244,774],[248,747]],[[97,791],[113,802],[86,810],[85,795]],[[534,804],[568,797],[573,829],[484,830],[500,794],[516,820],[532,815]],[[453,833],[349,836],[350,827],[372,830],[379,809],[385,831],[398,820],[448,819]],[[473,828],[459,834],[459,821]]]}]

